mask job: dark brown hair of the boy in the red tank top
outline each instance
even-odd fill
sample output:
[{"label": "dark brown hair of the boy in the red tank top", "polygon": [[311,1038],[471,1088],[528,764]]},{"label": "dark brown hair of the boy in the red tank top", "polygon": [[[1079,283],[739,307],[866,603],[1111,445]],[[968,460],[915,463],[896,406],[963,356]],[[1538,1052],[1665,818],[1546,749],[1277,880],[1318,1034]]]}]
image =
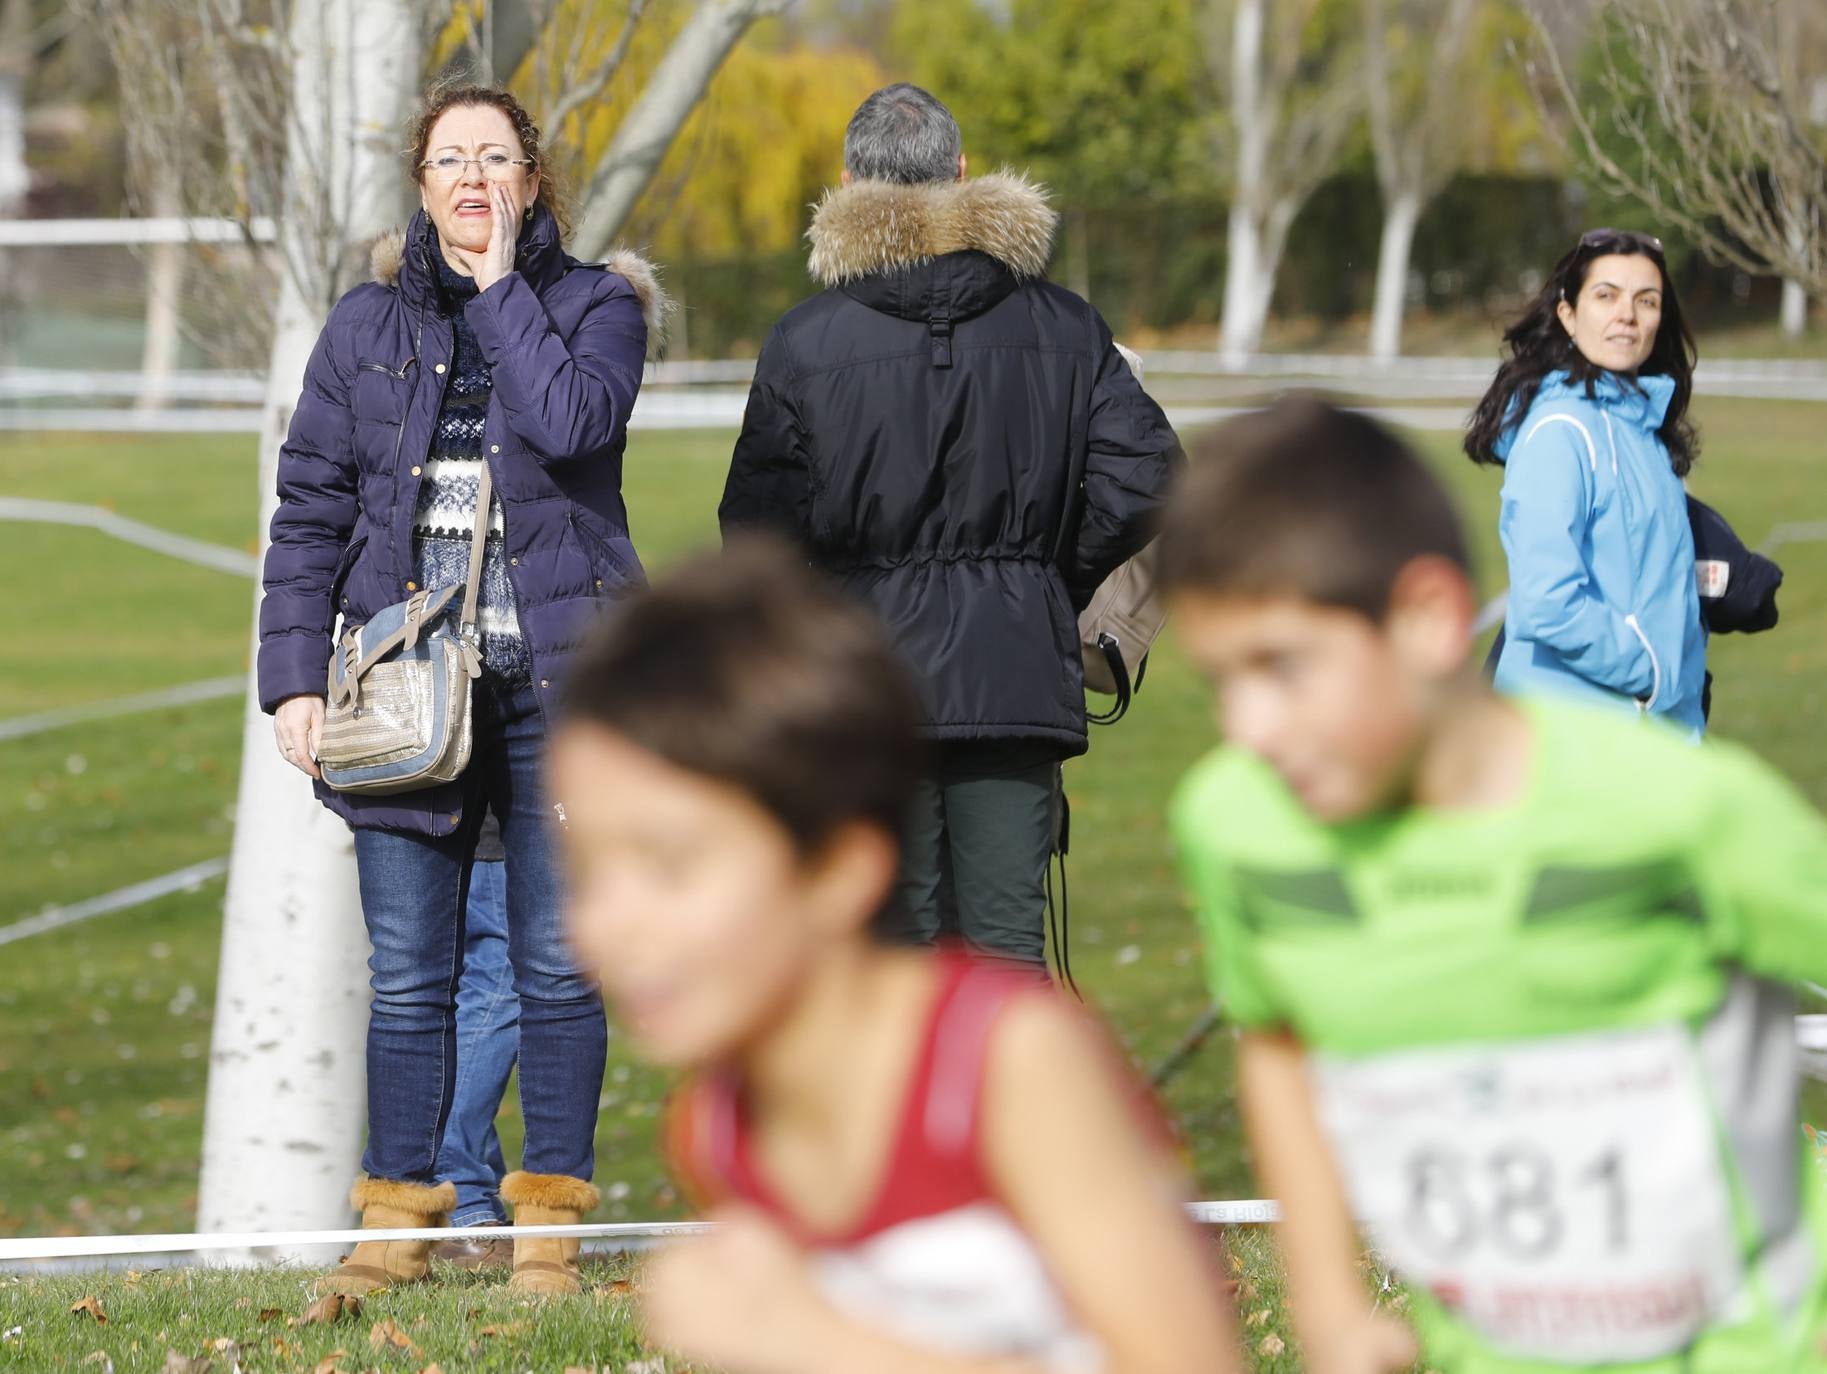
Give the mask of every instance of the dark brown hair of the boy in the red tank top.
[{"label": "dark brown hair of the boy in the red tank top", "polygon": [[881,627],[758,535],[618,607],[565,718],[747,793],[802,853],[853,820],[899,840],[923,764],[919,703]]}]

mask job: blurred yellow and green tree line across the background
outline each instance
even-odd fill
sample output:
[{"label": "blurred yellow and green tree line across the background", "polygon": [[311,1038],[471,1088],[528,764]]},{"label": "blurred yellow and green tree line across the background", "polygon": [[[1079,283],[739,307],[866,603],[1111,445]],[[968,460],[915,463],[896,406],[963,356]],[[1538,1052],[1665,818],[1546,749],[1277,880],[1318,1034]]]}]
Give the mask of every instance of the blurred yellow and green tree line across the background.
[{"label": "blurred yellow and green tree line across the background", "polygon": [[[893,79],[943,93],[979,170],[1025,168],[1052,186],[1065,212],[1054,276],[1136,336],[1195,344],[1222,323],[1224,347],[1244,354],[1261,347],[1272,312],[1365,316],[1367,347],[1390,356],[1407,312],[1507,309],[1589,221],[1664,232],[1714,320],[1772,314],[1787,278],[1783,318],[1800,333],[1807,294],[1820,291],[1809,259],[1818,250],[1796,247],[1818,241],[1818,203],[1776,203],[1785,186],[1822,179],[1827,53],[1807,0],[764,9],[780,13],[729,51],[619,219],[672,269],[687,354],[753,351],[808,292],[809,205],[835,177],[850,110]],[[446,11],[433,60],[475,64],[477,35],[521,15],[512,51],[491,53],[490,69],[557,115],[555,143],[572,152],[565,170],[590,188],[691,7],[533,0],[497,11],[484,0]],[[40,49],[22,82],[35,111],[35,214],[111,214],[146,159],[128,152],[132,132],[119,133],[106,42],[77,13],[0,0],[0,104],[16,55]],[[1739,64],[1767,53],[1770,69],[1723,73],[1708,33],[1736,33],[1750,53]],[[1787,91],[1774,106],[1756,95],[1772,82]],[[1785,108],[1800,141],[1770,132]],[[1739,113],[1736,126],[1727,110]],[[1710,157],[1695,155],[1703,143]],[[1674,175],[1681,168],[1699,177]],[[583,248],[601,247],[592,236],[605,230],[586,227]],[[1800,265],[1774,261],[1778,236]]]}]

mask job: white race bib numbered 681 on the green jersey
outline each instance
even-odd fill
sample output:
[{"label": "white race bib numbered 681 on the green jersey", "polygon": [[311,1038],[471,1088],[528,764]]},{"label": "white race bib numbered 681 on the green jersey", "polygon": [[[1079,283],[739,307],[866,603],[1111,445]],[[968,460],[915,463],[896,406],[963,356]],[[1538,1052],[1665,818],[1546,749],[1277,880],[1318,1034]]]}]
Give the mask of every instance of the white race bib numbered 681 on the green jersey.
[{"label": "white race bib numbered 681 on the green jersey", "polygon": [[1674,1354],[1743,1281],[1681,1027],[1314,1056],[1372,1244],[1496,1350]]}]

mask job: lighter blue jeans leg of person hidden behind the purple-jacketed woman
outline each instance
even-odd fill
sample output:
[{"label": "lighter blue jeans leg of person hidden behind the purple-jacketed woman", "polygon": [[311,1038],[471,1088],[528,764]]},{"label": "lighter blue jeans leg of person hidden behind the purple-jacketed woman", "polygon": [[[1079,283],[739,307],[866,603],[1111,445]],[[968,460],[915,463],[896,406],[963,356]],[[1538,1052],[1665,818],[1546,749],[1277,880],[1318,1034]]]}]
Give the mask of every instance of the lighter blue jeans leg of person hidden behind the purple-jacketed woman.
[{"label": "lighter blue jeans leg of person hidden behind the purple-jacketed woman", "polygon": [[451,1226],[508,1219],[501,1206],[495,1115],[521,1045],[521,999],[508,963],[506,864],[475,861],[464,906],[462,976],[457,979],[457,1087],[444,1124],[435,1173],[457,1186]]}]

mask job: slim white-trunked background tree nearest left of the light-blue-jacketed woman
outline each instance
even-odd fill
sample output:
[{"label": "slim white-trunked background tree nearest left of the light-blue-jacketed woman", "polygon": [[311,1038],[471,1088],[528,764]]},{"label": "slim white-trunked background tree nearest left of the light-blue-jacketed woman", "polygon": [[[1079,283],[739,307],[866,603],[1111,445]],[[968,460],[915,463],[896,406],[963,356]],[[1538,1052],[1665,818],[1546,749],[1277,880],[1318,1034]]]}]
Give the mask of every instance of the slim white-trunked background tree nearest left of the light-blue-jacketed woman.
[{"label": "slim white-trunked background tree nearest left of the light-blue-jacketed woman", "polygon": [[1376,358],[1401,353],[1414,230],[1460,166],[1465,58],[1476,5],[1478,0],[1363,0],[1370,146],[1383,194],[1370,311]]}]

